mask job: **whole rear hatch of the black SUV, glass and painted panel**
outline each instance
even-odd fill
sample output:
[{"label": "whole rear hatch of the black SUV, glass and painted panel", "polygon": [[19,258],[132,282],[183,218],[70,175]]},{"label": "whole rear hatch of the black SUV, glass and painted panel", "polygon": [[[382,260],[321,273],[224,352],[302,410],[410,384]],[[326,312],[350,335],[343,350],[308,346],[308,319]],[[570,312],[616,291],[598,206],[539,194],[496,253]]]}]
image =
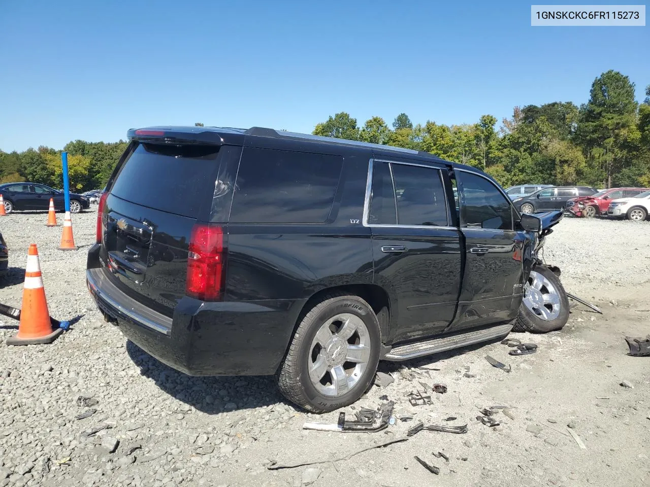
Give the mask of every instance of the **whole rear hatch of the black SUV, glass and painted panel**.
[{"label": "whole rear hatch of the black SUV, glass and painted panel", "polygon": [[218,151],[133,142],[110,185],[102,232],[110,279],[166,316],[185,295],[188,244],[197,219],[209,218]]}]

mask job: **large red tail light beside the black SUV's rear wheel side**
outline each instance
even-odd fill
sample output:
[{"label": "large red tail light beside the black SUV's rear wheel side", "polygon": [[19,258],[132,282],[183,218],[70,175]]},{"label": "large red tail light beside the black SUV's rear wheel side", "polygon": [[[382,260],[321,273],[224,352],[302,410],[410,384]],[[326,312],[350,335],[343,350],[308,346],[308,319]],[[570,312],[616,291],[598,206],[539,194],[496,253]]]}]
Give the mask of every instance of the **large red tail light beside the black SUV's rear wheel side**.
[{"label": "large red tail light beside the black SUV's rear wheel side", "polygon": [[207,223],[194,225],[187,256],[187,295],[201,301],[219,301],[225,284],[225,260],[222,227]]}]

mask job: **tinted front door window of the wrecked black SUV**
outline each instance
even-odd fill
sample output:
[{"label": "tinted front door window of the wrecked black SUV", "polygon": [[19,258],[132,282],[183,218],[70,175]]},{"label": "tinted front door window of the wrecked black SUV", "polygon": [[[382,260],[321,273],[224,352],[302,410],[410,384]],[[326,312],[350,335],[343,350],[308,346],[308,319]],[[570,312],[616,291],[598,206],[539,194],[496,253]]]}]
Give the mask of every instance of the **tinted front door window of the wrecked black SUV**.
[{"label": "tinted front door window of the wrecked black SUV", "polygon": [[512,206],[493,182],[456,171],[461,183],[461,225],[481,229],[512,230]]}]

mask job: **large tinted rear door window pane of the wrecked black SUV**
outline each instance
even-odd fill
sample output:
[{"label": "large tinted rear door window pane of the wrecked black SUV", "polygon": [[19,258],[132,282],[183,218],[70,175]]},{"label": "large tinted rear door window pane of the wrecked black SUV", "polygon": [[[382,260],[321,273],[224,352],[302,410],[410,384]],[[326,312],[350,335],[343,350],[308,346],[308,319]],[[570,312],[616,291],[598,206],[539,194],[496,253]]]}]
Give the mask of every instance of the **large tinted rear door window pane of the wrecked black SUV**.
[{"label": "large tinted rear door window pane of the wrecked black SUV", "polygon": [[398,225],[447,225],[447,199],[440,171],[406,164],[391,166]]}]

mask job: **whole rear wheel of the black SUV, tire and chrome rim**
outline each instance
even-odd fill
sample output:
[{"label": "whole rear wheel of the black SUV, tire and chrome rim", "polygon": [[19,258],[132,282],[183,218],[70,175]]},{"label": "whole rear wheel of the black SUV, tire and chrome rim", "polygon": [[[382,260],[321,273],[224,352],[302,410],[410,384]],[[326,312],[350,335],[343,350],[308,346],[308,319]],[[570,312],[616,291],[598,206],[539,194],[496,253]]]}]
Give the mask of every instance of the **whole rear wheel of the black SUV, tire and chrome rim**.
[{"label": "whole rear wheel of the black SUV, tire and chrome rim", "polygon": [[298,325],[278,371],[279,390],[310,412],[348,406],[372,383],[380,345],[379,322],[366,301],[326,295]]}]

